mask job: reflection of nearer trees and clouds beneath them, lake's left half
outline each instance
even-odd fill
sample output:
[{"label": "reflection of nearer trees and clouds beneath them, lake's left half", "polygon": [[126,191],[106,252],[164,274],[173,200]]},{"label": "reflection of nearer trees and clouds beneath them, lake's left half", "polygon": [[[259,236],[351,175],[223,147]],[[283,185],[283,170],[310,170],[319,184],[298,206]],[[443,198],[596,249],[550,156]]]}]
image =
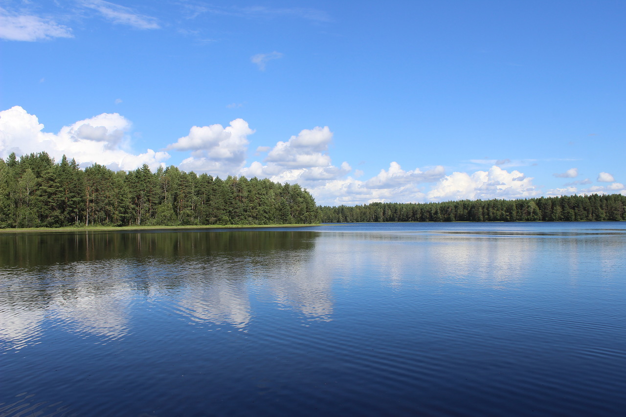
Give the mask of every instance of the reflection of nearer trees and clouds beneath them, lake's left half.
[{"label": "reflection of nearer trees and clouds beneath them, lake's left half", "polygon": [[175,297],[178,313],[193,321],[244,327],[254,315],[250,289],[267,285],[280,304],[328,318],[332,273],[313,251],[317,236],[270,230],[0,235],[8,248],[0,253],[1,283],[13,285],[0,297],[8,323],[1,336],[27,340],[50,317],[120,337],[136,291]]}]

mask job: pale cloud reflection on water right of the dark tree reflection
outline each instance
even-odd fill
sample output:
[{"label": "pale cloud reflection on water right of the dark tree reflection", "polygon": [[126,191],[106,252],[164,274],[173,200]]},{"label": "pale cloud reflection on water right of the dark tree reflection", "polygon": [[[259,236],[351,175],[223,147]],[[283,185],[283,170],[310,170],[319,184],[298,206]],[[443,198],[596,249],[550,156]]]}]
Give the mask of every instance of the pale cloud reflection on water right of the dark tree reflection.
[{"label": "pale cloud reflection on water right of the dark tree reflection", "polygon": [[336,276],[378,275],[393,287],[416,277],[457,283],[470,277],[500,287],[519,279],[537,245],[534,239],[415,232],[327,235],[327,252],[336,257],[329,264],[339,264]]}]

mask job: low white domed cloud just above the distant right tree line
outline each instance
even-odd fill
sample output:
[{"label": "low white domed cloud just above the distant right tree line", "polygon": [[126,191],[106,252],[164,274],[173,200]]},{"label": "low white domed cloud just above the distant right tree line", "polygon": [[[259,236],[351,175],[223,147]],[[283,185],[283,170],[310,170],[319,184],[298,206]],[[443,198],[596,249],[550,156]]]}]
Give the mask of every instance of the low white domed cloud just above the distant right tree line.
[{"label": "low white domed cloud just above the distant right tree line", "polygon": [[427,196],[436,201],[534,197],[539,192],[532,180],[519,171],[508,172],[494,165],[488,171],[477,171],[471,175],[466,172],[446,175]]}]

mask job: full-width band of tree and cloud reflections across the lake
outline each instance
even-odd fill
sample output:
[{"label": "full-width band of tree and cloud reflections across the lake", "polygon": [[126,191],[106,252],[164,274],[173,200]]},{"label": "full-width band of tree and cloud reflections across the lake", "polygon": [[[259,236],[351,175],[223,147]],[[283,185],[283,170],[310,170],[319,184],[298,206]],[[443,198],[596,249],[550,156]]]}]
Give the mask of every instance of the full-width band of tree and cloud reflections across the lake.
[{"label": "full-width band of tree and cloud reflections across the lake", "polygon": [[[329,321],[337,277],[499,289],[520,284],[537,262],[560,264],[572,280],[585,262],[614,274],[623,250],[622,240],[593,234],[458,231],[9,234],[0,244],[8,249],[0,253],[0,337],[13,349],[40,337],[46,319],[118,339],[138,291],[175,299],[175,311],[193,322],[245,328],[254,318],[251,292],[265,288],[278,304]],[[602,245],[599,259],[580,256],[587,245]]]}]

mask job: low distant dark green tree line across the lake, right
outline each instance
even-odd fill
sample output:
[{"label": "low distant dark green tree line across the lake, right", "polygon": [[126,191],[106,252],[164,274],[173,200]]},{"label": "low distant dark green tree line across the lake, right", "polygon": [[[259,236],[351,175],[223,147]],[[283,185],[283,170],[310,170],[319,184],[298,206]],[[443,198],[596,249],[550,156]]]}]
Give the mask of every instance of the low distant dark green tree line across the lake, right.
[{"label": "low distant dark green tree line across the lake, right", "polygon": [[525,200],[370,203],[320,207],[323,223],[337,222],[576,222],[626,220],[626,196],[573,195]]}]

